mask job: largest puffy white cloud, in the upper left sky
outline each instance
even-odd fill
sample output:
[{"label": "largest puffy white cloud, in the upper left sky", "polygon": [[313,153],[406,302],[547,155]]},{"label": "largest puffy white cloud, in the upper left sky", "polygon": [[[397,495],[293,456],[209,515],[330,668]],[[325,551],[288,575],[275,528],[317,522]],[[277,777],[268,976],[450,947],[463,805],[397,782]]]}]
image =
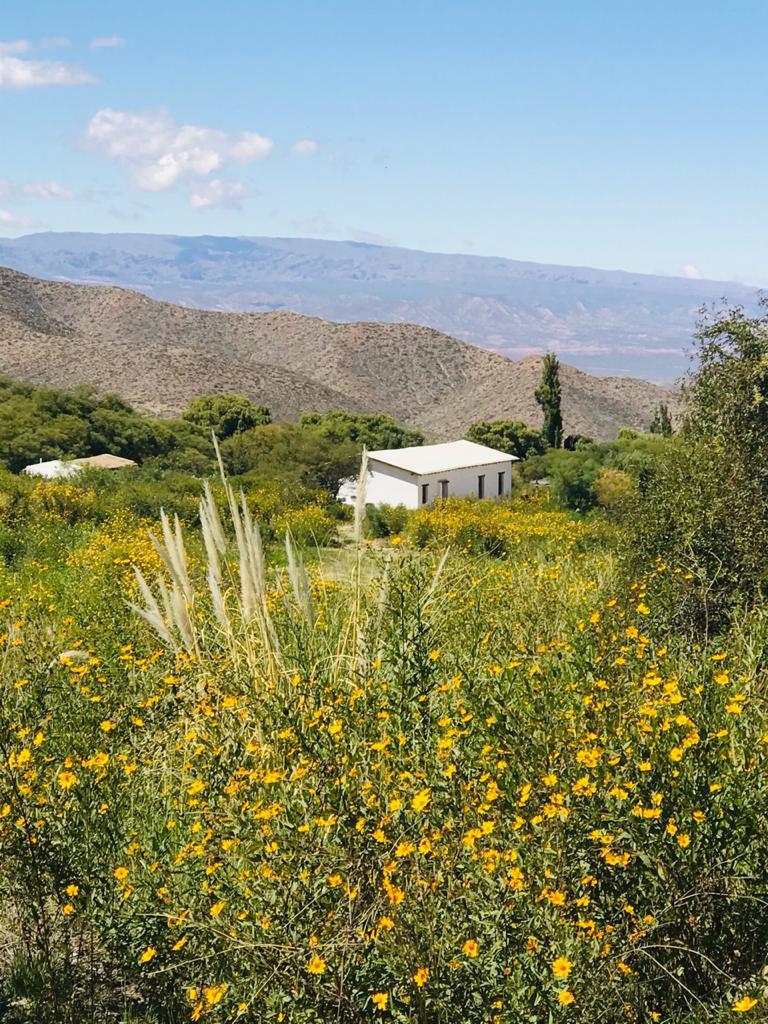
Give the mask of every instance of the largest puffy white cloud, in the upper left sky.
[{"label": "largest puffy white cloud, in the upper left sky", "polygon": [[[124,167],[133,184],[142,191],[164,191],[185,184],[197,197],[198,209],[216,205],[216,189],[201,188],[209,175],[229,163],[264,160],[272,142],[255,132],[228,135],[201,125],[177,125],[163,111],[97,111],[85,133],[86,144],[108,160]],[[221,198],[229,188],[228,203],[237,199],[231,186],[216,179]],[[213,185],[213,181],[208,182]],[[240,196],[242,198],[242,195]]]}]

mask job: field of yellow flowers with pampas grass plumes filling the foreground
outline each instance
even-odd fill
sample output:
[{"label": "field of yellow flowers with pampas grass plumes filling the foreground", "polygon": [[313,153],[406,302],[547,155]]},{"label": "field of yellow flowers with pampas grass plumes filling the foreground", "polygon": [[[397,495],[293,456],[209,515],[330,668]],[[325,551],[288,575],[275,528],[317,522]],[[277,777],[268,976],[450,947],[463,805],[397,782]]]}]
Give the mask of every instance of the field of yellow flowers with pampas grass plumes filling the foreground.
[{"label": "field of yellow flowers with pampas grass plumes filling the foreground", "polygon": [[0,566],[0,1020],[766,1019],[768,617],[537,506],[341,580],[200,522],[46,495]]}]

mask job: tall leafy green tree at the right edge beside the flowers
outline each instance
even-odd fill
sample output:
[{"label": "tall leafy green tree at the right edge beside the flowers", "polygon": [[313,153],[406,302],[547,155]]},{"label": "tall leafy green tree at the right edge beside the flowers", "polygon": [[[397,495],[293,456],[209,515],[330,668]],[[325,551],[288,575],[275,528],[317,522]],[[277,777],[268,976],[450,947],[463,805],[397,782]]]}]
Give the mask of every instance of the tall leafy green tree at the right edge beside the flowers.
[{"label": "tall leafy green tree at the right edge beside the flowers", "polygon": [[631,516],[640,567],[659,559],[686,570],[673,579],[686,581],[676,599],[695,632],[724,626],[734,606],[768,591],[767,310],[705,314],[683,428]]}]

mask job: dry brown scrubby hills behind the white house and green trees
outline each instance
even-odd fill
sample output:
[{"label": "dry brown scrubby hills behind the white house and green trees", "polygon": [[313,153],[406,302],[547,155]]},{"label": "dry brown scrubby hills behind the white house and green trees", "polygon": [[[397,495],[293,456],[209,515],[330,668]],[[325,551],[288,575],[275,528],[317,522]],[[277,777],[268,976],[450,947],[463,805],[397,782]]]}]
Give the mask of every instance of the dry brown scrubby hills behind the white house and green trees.
[{"label": "dry brown scrubby hills behind the white house and green trees", "polygon": [[[439,439],[479,419],[540,422],[541,359],[514,362],[431,328],[335,324],[159,302],[120,288],[40,281],[0,268],[0,372],[36,384],[91,384],[172,415],[196,394],[237,391],[275,418],[331,409],[388,413]],[[644,427],[666,388],[563,366],[571,433]]]}]

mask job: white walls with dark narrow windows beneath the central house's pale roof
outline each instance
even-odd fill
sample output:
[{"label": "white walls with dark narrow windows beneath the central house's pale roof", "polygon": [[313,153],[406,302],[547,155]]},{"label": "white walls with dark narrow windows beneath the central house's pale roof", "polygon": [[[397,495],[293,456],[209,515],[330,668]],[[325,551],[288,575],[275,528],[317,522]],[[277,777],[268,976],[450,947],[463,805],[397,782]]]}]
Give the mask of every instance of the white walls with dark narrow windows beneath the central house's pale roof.
[{"label": "white walls with dark narrow windows beneath the central house's pale roof", "polygon": [[386,466],[371,460],[369,463],[366,504],[404,505],[416,509],[421,505],[421,487],[429,484],[428,505],[440,497],[439,481],[449,481],[449,498],[477,498],[477,477],[485,475],[485,498],[498,498],[499,473],[504,471],[504,494],[512,489],[513,462],[494,463],[489,466],[471,466],[467,469],[453,469],[444,473],[429,473],[416,476],[403,469]]}]

